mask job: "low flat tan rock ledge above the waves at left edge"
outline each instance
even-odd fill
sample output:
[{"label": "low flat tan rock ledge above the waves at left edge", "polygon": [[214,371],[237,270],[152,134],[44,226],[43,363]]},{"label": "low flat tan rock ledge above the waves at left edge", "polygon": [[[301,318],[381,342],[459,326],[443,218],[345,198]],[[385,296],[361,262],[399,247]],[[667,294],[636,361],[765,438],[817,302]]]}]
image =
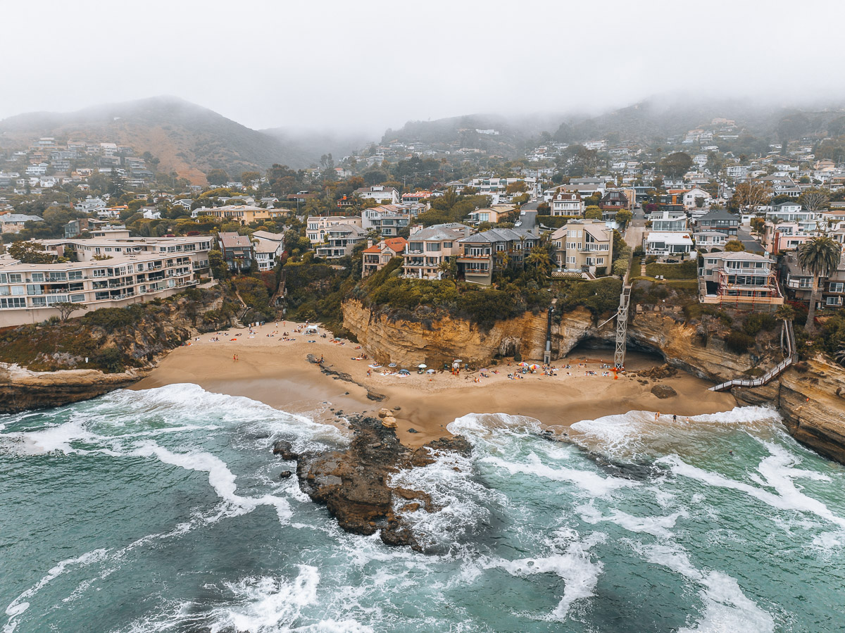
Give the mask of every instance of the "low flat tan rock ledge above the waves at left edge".
[{"label": "low flat tan rock ledge above the waves at left edge", "polygon": [[61,407],[71,402],[90,400],[133,385],[147,373],[140,369],[116,374],[96,369],[34,372],[16,364],[0,363],[0,413]]}]

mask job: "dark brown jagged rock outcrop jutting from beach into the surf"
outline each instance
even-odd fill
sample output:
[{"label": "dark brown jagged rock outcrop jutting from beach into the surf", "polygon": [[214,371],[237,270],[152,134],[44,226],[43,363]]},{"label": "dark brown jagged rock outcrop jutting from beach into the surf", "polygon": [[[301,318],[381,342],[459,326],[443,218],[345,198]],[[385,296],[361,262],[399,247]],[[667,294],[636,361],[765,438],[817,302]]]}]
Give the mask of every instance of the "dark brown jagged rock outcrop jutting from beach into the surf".
[{"label": "dark brown jagged rock outcrop jutting from beach into the surf", "polygon": [[402,469],[433,463],[437,451],[454,450],[468,455],[471,446],[455,436],[438,439],[412,450],[402,445],[395,430],[374,417],[351,421],[352,444],[346,450],[297,455],[286,443],[276,443],[274,453],[297,461],[299,486],[324,504],[347,532],[369,535],[380,532],[388,545],[422,549],[405,514],[436,510],[431,497],[421,491],[390,483]]}]

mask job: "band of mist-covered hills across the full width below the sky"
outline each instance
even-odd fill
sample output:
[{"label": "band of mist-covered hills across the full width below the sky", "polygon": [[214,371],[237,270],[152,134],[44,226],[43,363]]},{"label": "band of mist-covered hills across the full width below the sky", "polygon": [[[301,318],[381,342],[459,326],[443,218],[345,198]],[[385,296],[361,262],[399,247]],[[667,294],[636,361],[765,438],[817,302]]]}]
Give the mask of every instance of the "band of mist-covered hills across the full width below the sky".
[{"label": "band of mist-covered hills across the full width below the sky", "polygon": [[[736,122],[738,131],[777,142],[783,136],[823,138],[845,132],[841,105],[787,108],[747,101],[654,98],[598,115],[537,113],[503,116],[472,114],[433,121],[409,121],[388,129],[383,144],[420,143],[439,149],[473,148],[486,156],[514,158],[541,142],[660,144],[668,136],[707,126],[715,118]],[[341,125],[342,122],[335,123]],[[77,112],[31,112],[0,121],[0,148],[28,147],[40,137],[60,143],[85,140],[129,145],[138,155],[150,151],[161,172],[177,172],[204,184],[205,174],[221,168],[232,177],[264,170],[274,163],[303,168],[332,154],[335,161],[377,139],[355,132],[319,132],[295,124],[254,130],[203,106],[158,96],[93,106]]]}]

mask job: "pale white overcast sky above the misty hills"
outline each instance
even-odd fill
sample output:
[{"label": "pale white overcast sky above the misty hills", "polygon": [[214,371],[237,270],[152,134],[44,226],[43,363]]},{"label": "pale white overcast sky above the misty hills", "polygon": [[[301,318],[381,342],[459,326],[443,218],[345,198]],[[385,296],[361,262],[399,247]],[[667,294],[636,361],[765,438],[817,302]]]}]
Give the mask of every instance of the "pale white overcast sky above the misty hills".
[{"label": "pale white overcast sky above the misty hills", "polygon": [[177,95],[250,128],[380,133],[684,90],[841,98],[840,0],[3,2],[0,118]]}]

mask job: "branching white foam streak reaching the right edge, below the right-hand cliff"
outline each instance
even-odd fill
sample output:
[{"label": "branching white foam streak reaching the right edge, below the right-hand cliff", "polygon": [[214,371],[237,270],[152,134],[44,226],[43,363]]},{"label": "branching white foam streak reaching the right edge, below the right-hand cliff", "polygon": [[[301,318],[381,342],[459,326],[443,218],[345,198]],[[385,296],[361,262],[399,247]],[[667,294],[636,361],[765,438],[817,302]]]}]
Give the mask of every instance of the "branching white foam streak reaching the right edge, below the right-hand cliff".
[{"label": "branching white foam streak reaching the right edge, below the right-hand cliff", "polygon": [[706,483],[708,486],[737,490],[777,510],[807,512],[826,521],[830,521],[839,527],[845,527],[845,518],[833,514],[819,500],[812,499],[800,492],[794,483],[794,479],[799,478],[830,481],[830,477],[818,472],[793,468],[793,465],[799,462],[798,456],[790,454],[788,450],[779,445],[768,442],[763,442],[763,445],[769,450],[769,456],[764,457],[760,461],[760,464],[757,466],[757,472],[760,475],[753,477],[752,481],[755,480],[762,487],[772,488],[775,492],[770,492],[750,483],[735,481],[716,472],[709,472],[699,467],[691,466],[678,456],[662,457],[657,461],[668,464],[672,472],[676,475],[696,479],[702,483]]}]

